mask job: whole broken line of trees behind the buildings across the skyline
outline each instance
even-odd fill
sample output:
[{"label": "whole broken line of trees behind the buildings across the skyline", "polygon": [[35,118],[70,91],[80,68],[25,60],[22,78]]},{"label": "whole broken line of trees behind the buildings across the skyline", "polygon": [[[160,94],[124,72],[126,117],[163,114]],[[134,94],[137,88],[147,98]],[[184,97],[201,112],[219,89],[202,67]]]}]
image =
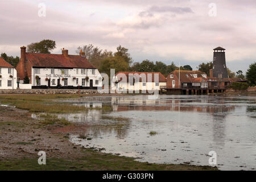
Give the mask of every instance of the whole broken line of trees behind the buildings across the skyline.
[{"label": "whole broken line of trees behind the buildings across the skyline", "polygon": [[[34,53],[51,53],[53,49],[56,48],[56,43],[53,40],[42,40],[40,42],[31,43],[27,45],[27,52]],[[92,63],[101,73],[107,73],[110,76],[110,68],[115,69],[115,73],[119,71],[138,71],[138,72],[160,72],[164,76],[167,76],[168,73],[171,73],[175,69],[179,69],[174,62],[170,65],[164,64],[162,61],[156,61],[155,63],[150,60],[143,60],[141,63],[134,62],[129,49],[118,46],[115,52],[102,50],[97,46],[93,46],[92,44],[78,47],[77,54],[80,51],[85,52],[85,56],[90,63]],[[5,59],[8,63],[16,67],[19,62],[19,57],[7,56],[6,53],[1,53],[1,57]],[[208,63],[201,63],[197,67],[197,69],[201,72],[207,73],[209,76],[210,69],[212,69],[213,64],[211,61]],[[181,70],[191,70],[190,65],[184,65],[180,67]],[[236,73],[230,71],[228,69],[228,75],[230,78],[238,77],[245,78],[243,72],[241,70]],[[255,85],[256,80],[256,63],[251,64],[249,69],[246,72],[246,78],[249,80],[250,85]]]}]

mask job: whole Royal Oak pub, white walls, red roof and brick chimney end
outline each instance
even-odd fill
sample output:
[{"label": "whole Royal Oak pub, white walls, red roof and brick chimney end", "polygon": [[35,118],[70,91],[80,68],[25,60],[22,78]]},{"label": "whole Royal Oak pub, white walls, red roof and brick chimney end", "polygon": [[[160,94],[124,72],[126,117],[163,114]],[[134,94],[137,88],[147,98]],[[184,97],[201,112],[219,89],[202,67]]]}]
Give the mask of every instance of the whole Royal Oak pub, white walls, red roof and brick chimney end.
[{"label": "whole Royal Oak pub, white walls, red roof and brick chimney end", "polygon": [[28,53],[21,47],[20,61],[16,69],[20,83],[28,76],[32,88],[97,89],[102,77],[85,56],[47,53]]}]

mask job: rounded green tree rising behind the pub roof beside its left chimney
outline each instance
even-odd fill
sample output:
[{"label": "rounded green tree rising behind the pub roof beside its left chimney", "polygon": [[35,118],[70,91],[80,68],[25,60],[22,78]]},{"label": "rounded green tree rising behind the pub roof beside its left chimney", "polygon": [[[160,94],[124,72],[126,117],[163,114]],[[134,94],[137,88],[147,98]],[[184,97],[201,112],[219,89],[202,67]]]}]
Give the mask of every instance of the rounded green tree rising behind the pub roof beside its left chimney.
[{"label": "rounded green tree rising behind the pub roof beside its left chimney", "polygon": [[27,45],[27,52],[31,53],[51,53],[56,48],[56,43],[53,40],[45,39],[40,42],[35,42]]}]

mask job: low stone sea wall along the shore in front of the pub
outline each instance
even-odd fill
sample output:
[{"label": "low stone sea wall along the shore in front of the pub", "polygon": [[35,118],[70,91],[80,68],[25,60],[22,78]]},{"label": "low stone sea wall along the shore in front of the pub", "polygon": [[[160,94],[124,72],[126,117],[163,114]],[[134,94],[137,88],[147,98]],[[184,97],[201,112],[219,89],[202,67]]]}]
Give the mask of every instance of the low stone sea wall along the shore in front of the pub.
[{"label": "low stone sea wall along the shore in front of the pub", "polygon": [[[77,89],[16,89],[0,90],[0,94],[76,94]],[[80,94],[98,94],[97,90],[80,90]]]}]

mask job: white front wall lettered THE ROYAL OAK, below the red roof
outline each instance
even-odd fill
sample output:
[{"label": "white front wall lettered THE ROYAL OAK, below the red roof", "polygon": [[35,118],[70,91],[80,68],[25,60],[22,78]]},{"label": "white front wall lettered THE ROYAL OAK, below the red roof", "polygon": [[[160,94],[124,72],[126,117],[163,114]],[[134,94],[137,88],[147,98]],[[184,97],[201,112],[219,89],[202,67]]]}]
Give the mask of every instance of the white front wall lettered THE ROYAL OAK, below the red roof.
[{"label": "white front wall lettered THE ROYAL OAK, below the red roof", "polygon": [[[90,86],[90,80],[93,80],[93,86],[102,86],[102,76],[100,75],[100,72],[98,72],[98,69],[95,70],[95,75],[92,74],[92,69],[85,69],[85,74],[81,73],[81,68],[78,69],[77,74],[77,68],[68,69],[68,74],[63,74],[61,72],[61,69],[54,69],[54,74],[51,74],[51,68],[40,68],[40,73],[35,73],[35,68],[31,68],[31,84],[32,86],[36,86],[36,76],[40,77],[40,85],[47,85],[48,81],[46,81],[46,78],[51,78],[51,86],[57,86],[57,80],[60,78],[60,84],[61,86],[64,86],[64,81],[62,78],[68,78],[68,86]],[[85,78],[86,76],[89,77],[88,82],[85,80],[85,85],[82,85],[82,78]],[[76,80],[73,80],[73,77],[78,78],[78,84]],[[55,80],[55,84],[53,84],[53,79]],[[98,80],[98,85],[96,85],[96,80]]]}]

